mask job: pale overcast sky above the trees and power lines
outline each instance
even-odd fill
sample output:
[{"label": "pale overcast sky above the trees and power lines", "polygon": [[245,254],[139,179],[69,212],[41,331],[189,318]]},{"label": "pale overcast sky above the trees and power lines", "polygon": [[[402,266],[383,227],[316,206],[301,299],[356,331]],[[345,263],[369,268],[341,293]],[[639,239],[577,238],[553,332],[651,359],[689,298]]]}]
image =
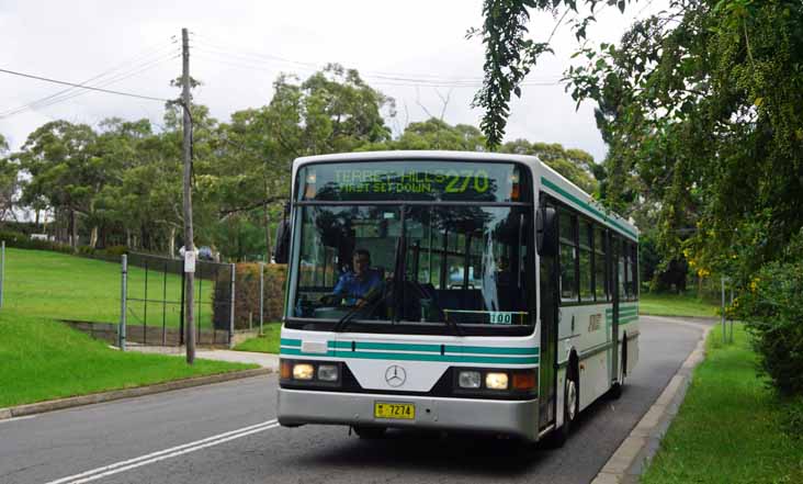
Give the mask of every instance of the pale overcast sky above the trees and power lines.
[{"label": "pale overcast sky above the trees and power lines", "polygon": [[[181,72],[185,26],[191,72],[204,83],[195,99],[218,120],[265,104],[280,72],[305,78],[336,61],[396,99],[398,114],[388,120],[396,133],[430,114],[478,125],[482,112],[470,104],[483,75],[483,46],[465,32],[482,24],[480,12],[480,0],[0,0],[0,69],[174,98],[169,80]],[[625,14],[606,8],[590,37],[615,42],[635,16],[647,13],[641,5]],[[556,22],[551,14],[534,15],[532,37],[545,40]],[[606,146],[592,105],[575,111],[557,82],[577,47],[567,25],[554,43],[555,55],[543,57],[512,105],[507,138],[561,143],[599,161]],[[109,116],[161,120],[160,102],[86,91],[54,97],[65,89],[0,72],[0,133],[12,149],[56,119],[91,125]]]}]

